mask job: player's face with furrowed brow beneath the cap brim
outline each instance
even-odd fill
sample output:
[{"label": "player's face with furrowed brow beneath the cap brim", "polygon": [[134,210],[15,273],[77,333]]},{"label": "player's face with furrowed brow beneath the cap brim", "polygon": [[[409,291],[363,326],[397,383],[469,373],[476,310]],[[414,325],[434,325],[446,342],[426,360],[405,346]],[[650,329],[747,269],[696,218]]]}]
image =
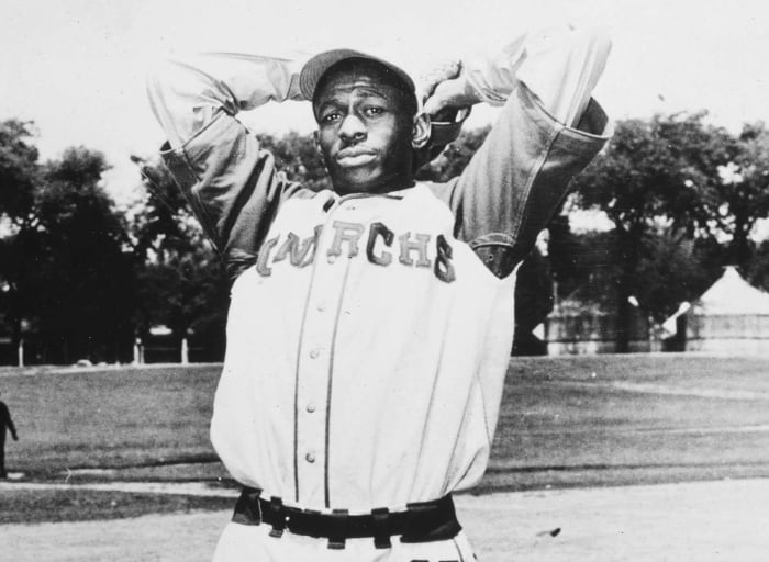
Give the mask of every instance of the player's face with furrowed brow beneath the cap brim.
[{"label": "player's face with furrowed brow beneath the cap brim", "polygon": [[314,99],[317,144],[338,193],[411,184],[413,102],[375,64],[332,70]]}]

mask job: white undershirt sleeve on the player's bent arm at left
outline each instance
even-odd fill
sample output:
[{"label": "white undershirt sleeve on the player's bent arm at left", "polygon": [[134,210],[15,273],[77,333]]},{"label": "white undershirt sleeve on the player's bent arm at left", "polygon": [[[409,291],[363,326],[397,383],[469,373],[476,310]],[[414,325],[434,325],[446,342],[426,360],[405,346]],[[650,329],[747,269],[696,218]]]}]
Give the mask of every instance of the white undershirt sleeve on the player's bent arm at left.
[{"label": "white undershirt sleeve on the player's bent arm at left", "polygon": [[155,117],[171,147],[182,146],[220,111],[236,115],[268,101],[301,100],[300,64],[286,58],[210,53],[164,60],[147,77]]}]

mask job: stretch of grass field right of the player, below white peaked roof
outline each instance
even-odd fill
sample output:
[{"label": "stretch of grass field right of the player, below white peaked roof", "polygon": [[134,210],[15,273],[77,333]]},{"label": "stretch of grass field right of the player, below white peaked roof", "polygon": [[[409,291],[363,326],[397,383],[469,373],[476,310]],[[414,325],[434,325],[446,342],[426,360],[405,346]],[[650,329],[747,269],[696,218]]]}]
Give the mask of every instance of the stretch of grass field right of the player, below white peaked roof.
[{"label": "stretch of grass field right of the player, below white peaked roof", "polygon": [[514,360],[480,490],[769,475],[769,359]]}]

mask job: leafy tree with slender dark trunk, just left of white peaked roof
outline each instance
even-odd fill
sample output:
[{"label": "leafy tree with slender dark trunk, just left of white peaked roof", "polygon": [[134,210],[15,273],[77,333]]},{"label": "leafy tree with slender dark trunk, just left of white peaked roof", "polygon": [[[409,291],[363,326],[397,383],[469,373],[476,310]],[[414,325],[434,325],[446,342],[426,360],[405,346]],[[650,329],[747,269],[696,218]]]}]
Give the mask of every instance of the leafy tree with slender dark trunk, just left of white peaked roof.
[{"label": "leafy tree with slender dark trunk, just left of white peaked roof", "polygon": [[707,228],[721,186],[718,169],[737,154],[704,114],[656,115],[617,123],[608,149],[575,180],[577,201],[614,223],[617,350],[629,344],[631,303],[643,289],[640,263],[661,228],[693,236]]}]

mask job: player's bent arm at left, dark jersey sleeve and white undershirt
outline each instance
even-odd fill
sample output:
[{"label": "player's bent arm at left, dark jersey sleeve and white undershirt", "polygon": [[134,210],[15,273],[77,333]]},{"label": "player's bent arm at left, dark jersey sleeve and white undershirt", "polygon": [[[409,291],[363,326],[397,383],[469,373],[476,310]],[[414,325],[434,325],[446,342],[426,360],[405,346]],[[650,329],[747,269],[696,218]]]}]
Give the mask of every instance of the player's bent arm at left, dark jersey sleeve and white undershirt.
[{"label": "player's bent arm at left, dark jersey sleeve and white undershirt", "polygon": [[287,59],[211,54],[164,61],[147,80],[168,138],[160,155],[231,279],[256,261],[281,200],[302,191],[236,115],[301,100],[296,68]]}]

